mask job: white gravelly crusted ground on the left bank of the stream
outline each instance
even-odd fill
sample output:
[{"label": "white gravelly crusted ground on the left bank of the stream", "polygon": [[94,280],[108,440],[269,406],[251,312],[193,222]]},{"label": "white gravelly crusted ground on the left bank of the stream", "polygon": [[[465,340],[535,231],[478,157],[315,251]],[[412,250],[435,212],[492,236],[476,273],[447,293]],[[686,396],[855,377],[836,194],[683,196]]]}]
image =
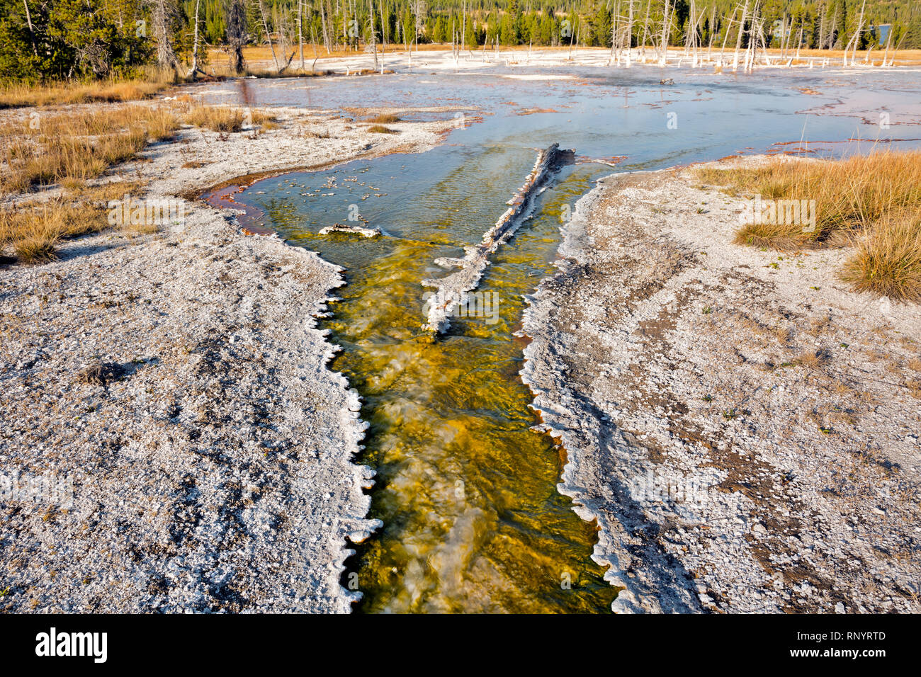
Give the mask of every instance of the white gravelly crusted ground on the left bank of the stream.
[{"label": "white gravelly crusted ground on the left bank of the stream", "polygon": [[[259,135],[184,128],[106,181],[172,197],[419,151],[444,126],[275,112]],[[314,321],[339,270],[230,211],[186,210],[0,266],[5,611],[347,612],[356,595],[339,578],[345,537],[377,526],[372,472],[351,461],[367,425]]]}]

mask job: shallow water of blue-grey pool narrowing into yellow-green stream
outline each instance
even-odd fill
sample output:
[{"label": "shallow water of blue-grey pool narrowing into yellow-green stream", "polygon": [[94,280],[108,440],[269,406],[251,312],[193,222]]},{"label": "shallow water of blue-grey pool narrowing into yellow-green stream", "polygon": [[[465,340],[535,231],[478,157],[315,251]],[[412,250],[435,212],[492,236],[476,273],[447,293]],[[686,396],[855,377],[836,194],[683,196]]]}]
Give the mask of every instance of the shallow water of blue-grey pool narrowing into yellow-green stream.
[{"label": "shallow water of blue-grey pool narrowing into yellow-green stream", "polygon": [[[448,143],[426,153],[288,173],[235,196],[291,244],[346,269],[323,326],[343,347],[332,368],[364,398],[370,428],[360,461],[378,471],[370,517],[384,526],[350,562],[363,611],[610,610],[615,590],[590,558],[594,526],[555,488],[565,450],[530,429],[538,420],[519,379],[525,339],[517,335],[523,295],[554,270],[561,218],[612,171],[590,158],[657,169],[788,150],[787,142],[799,148],[800,140],[822,141],[802,144],[810,152],[842,155],[869,149],[854,139],[898,136],[909,140],[892,145],[917,146],[910,137],[921,135],[915,72],[733,79],[672,69],[681,81],[674,88],[659,87],[655,69],[574,72],[560,80],[416,74],[253,86],[262,105],[464,110]],[[204,92],[234,96],[220,86]],[[882,131],[885,101],[890,122],[904,126]],[[479,287],[493,303],[426,341],[429,290],[420,281],[444,274],[435,259],[479,241],[523,182],[534,148],[553,142],[582,161],[556,175],[535,215],[495,255]],[[318,235],[349,216],[385,237]]]}]

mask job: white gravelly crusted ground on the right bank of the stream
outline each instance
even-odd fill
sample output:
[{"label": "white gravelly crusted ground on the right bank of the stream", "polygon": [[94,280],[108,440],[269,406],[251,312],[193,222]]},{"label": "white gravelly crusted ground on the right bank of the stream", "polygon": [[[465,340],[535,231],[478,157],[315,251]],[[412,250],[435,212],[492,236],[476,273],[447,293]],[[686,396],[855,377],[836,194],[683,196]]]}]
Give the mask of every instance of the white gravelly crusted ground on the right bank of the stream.
[{"label": "white gravelly crusted ground on the right bank of the stream", "polygon": [[614,610],[917,613],[921,309],[850,291],[847,251],[732,244],[696,182],[602,181],[525,320]]}]

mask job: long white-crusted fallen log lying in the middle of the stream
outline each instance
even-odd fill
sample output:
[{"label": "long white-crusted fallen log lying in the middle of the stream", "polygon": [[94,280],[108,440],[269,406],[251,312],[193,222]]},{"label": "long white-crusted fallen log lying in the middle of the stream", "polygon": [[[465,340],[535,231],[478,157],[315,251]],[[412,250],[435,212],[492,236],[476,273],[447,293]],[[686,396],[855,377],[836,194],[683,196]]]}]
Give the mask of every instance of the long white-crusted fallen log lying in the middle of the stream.
[{"label": "long white-crusted fallen log lying in the middle of the stream", "polygon": [[505,244],[530,215],[534,197],[542,193],[547,178],[563,165],[571,163],[574,156],[572,150],[560,150],[559,144],[538,151],[534,168],[530,170],[524,185],[506,203],[510,205],[506,213],[495,222],[493,228],[484,233],[483,240],[478,245],[465,247],[462,258],[443,257],[435,260],[443,268],[459,270],[445,277],[422,281],[423,286],[437,288],[437,293],[430,295],[426,301],[427,321],[423,327],[426,331],[437,334],[449,328],[450,315],[464,302],[467,292],[479,284],[484,269],[489,265],[489,255]]}]

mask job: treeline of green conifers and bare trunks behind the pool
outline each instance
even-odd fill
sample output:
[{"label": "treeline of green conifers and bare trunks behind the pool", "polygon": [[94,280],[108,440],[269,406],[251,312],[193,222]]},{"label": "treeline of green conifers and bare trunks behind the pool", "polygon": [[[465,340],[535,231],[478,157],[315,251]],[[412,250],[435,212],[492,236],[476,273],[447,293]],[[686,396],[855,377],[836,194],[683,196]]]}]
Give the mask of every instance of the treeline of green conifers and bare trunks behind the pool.
[{"label": "treeline of green conifers and bare trunks behind the pool", "polygon": [[[283,69],[305,44],[332,52],[426,42],[601,46],[721,44],[921,49],[917,0],[0,0],[0,78],[131,76],[147,64],[183,75],[209,47],[245,67],[272,48]],[[312,48],[307,58],[313,56]],[[302,56],[301,56],[302,59]]]}]

